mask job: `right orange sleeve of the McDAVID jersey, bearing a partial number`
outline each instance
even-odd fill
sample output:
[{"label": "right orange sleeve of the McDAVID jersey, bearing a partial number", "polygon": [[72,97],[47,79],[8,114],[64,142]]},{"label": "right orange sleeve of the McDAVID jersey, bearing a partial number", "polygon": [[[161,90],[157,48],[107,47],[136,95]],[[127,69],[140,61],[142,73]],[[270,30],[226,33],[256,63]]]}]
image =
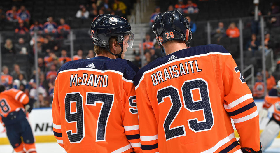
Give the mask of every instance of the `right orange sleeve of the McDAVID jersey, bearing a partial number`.
[{"label": "right orange sleeve of the McDAVID jersey, bearing a partial number", "polygon": [[134,152],[138,153],[141,152],[141,149],[135,87],[133,83],[126,81],[123,81],[123,86],[125,88],[124,95],[126,95],[125,108],[122,113],[125,135],[131,146],[134,148]]}]

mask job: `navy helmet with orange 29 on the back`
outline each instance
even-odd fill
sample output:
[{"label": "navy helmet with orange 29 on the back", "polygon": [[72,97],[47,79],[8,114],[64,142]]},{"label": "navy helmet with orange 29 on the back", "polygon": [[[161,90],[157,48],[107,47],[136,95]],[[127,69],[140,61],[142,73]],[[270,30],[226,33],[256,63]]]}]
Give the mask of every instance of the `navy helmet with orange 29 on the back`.
[{"label": "navy helmet with orange 29 on the back", "polygon": [[[187,29],[189,29],[188,40],[186,40]],[[167,41],[185,41],[187,47],[189,47],[190,40],[192,39],[192,31],[190,29],[189,21],[188,19],[185,19],[178,10],[159,13],[155,19],[152,30],[156,35],[157,42],[162,48],[162,52],[162,44]]]}]

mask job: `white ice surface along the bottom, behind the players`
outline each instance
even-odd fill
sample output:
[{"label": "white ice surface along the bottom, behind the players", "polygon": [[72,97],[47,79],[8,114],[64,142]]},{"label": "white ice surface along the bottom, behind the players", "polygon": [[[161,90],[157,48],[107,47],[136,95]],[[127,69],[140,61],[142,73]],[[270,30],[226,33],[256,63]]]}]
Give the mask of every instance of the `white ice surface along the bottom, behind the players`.
[{"label": "white ice surface along the bottom, behind the players", "polygon": [[[66,153],[57,143],[36,143],[38,153]],[[0,145],[1,153],[12,153],[11,145]],[[280,138],[273,141],[272,145],[264,153],[280,153]]]}]

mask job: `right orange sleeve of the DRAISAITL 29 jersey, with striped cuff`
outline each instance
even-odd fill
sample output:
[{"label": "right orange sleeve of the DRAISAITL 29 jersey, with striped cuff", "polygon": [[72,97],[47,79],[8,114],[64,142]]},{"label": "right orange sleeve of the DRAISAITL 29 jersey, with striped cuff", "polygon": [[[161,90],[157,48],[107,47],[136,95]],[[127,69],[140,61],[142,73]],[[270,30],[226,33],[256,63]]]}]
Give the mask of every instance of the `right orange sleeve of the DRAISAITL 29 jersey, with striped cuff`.
[{"label": "right orange sleeve of the DRAISAITL 29 jersey, with striped cuff", "polygon": [[224,108],[240,136],[241,148],[260,150],[260,126],[257,106],[243,76],[232,56],[224,56],[222,79],[224,86]]}]

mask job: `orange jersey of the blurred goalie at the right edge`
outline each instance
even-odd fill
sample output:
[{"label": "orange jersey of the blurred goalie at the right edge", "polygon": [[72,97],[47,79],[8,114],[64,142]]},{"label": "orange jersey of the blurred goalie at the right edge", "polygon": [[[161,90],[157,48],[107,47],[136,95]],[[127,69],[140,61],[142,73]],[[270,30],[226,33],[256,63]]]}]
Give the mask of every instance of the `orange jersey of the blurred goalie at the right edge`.
[{"label": "orange jersey of the blurred goalie at the right edge", "polygon": [[274,106],[273,117],[280,121],[280,97],[278,96],[278,91],[276,89],[270,89],[268,95],[265,96],[265,102],[263,103],[263,108],[269,108],[271,105]]}]

